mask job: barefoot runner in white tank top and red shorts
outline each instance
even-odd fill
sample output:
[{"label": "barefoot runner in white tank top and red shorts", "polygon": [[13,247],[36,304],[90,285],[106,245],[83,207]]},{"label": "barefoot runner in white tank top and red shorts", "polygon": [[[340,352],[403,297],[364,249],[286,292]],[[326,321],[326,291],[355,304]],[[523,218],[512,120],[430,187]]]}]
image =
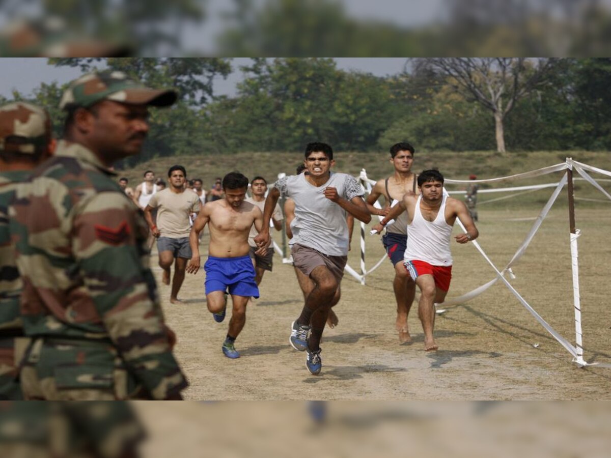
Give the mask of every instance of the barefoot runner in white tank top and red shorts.
[{"label": "barefoot runner in white tank top and red shorts", "polygon": [[424,330],[425,351],[436,351],[433,338],[435,306],[445,300],[452,278],[450,238],[458,217],[467,233],[455,236],[464,244],[478,236],[467,206],[460,200],[444,195],[444,176],[438,170],[425,170],[418,176],[420,196],[406,195],[394,206],[382,224],[396,219],[404,210],[408,213],[408,244],[404,266],[420,288],[418,315]]}]

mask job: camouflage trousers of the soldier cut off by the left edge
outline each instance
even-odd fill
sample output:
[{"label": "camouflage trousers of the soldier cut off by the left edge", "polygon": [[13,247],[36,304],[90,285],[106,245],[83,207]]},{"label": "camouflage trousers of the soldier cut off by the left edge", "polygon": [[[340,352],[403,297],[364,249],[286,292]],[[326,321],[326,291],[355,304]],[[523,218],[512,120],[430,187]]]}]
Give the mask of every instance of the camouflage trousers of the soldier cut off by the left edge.
[{"label": "camouflage trousers of the soldier cut off by the left edge", "polygon": [[23,399],[19,382],[19,363],[29,344],[25,337],[0,337],[0,400]]}]

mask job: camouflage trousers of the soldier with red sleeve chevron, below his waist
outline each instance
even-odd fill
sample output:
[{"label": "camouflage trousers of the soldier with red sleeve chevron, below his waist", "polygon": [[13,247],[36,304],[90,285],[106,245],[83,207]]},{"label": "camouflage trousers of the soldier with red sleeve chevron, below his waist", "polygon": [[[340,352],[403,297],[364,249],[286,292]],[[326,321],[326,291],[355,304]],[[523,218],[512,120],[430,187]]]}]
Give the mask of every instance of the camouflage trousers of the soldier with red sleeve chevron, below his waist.
[{"label": "camouflage trousers of the soldier with red sleeve chevron, below his waist", "polygon": [[33,338],[20,378],[27,400],[150,399],[106,341]]}]

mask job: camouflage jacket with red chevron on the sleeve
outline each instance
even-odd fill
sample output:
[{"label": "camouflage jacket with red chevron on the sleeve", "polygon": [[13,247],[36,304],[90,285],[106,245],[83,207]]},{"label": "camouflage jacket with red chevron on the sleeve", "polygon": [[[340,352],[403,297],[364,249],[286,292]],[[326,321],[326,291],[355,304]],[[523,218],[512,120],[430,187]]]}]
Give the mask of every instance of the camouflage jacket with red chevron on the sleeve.
[{"label": "camouflage jacket with red chevron on the sleeve", "polygon": [[18,187],[10,232],[28,336],[110,340],[153,399],[188,384],[170,349],[148,228],[92,151],[62,141]]}]

